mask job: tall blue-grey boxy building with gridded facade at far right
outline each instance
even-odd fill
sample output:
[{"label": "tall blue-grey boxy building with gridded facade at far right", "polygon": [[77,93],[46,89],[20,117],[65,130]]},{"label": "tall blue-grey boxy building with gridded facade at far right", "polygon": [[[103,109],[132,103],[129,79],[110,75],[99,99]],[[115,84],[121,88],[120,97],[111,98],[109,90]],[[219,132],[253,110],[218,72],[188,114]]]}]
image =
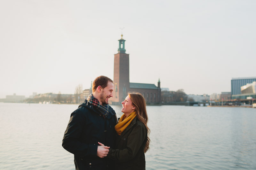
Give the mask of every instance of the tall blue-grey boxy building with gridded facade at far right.
[{"label": "tall blue-grey boxy building with gridded facade at far right", "polygon": [[256,77],[247,78],[232,78],[231,79],[231,95],[241,94],[241,86],[247,83],[252,83],[256,81]]}]

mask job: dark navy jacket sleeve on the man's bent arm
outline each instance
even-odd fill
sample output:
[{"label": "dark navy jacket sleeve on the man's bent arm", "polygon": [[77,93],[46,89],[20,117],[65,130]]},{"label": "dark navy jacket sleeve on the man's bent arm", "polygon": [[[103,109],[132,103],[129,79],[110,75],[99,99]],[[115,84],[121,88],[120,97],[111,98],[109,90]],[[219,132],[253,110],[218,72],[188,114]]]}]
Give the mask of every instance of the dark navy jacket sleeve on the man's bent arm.
[{"label": "dark navy jacket sleeve on the man's bent arm", "polygon": [[79,109],[75,110],[69,119],[67,129],[62,140],[62,147],[79,157],[97,156],[98,145],[85,144],[79,139],[86,119]]}]

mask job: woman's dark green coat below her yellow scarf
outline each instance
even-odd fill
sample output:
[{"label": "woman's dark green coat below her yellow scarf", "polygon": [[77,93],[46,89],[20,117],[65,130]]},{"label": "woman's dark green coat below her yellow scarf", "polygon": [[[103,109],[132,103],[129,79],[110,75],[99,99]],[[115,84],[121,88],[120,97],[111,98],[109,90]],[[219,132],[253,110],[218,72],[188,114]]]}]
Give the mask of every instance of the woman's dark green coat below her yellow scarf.
[{"label": "woman's dark green coat below her yellow scarf", "polygon": [[145,169],[144,148],[148,140],[146,126],[135,117],[116,137],[116,149],[109,149],[108,158],[116,160],[116,169]]}]

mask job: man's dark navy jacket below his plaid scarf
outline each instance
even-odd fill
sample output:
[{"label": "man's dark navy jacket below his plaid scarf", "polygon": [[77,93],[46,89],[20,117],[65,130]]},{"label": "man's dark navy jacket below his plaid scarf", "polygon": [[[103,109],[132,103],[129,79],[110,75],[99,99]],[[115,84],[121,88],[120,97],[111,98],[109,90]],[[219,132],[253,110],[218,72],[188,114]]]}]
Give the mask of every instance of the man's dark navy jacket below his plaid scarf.
[{"label": "man's dark navy jacket below his plaid scarf", "polygon": [[112,160],[97,156],[97,148],[98,142],[114,148],[116,123],[112,107],[109,106],[108,115],[103,116],[87,100],[71,113],[62,146],[74,154],[77,170],[113,168]]}]

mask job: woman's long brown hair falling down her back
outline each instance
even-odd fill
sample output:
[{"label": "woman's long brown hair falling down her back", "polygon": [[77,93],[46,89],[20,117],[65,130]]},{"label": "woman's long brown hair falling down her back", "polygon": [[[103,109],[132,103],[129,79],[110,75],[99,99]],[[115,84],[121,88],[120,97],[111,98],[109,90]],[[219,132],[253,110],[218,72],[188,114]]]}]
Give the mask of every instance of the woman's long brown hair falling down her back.
[{"label": "woman's long brown hair falling down her back", "polygon": [[150,139],[149,139],[150,129],[147,126],[148,114],[146,110],[146,100],[144,99],[142,94],[140,94],[139,92],[128,92],[128,95],[132,101],[133,106],[135,107],[137,118],[139,119],[140,122],[142,122],[146,126],[148,131],[148,140],[144,148],[144,153],[146,153],[149,149],[149,142],[150,142]]}]

